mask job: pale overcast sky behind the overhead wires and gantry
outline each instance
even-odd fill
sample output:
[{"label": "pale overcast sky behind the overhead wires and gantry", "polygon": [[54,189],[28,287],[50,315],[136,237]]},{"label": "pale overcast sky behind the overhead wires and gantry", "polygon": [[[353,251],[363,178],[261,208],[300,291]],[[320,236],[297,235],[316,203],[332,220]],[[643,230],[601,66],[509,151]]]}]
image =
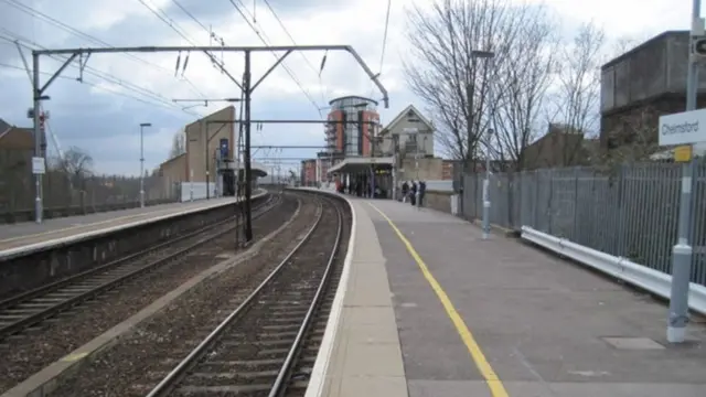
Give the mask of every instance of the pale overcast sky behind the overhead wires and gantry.
[{"label": "pale overcast sky behind the overhead wires and gantry", "polygon": [[[424,109],[424,104],[407,89],[400,68],[407,46],[404,8],[411,0],[392,1],[387,50],[382,64],[386,1],[269,0],[291,37],[263,0],[255,0],[255,6],[253,0],[233,2],[242,8],[268,44],[290,45],[293,37],[297,44],[352,45],[374,73],[382,72],[381,79],[391,97],[389,109],[381,106],[383,124],[409,104]],[[595,21],[609,37],[645,37],[664,30],[686,29],[691,7],[689,1],[673,0],[547,0],[544,3],[559,14],[565,30],[570,31],[579,22]],[[22,11],[22,4],[55,22],[32,10]],[[57,28],[57,23],[64,28]],[[17,49],[1,37],[20,36],[25,43],[50,49],[106,44],[207,45],[208,26],[213,26],[213,32],[223,37],[226,45],[263,45],[260,36],[229,0],[0,0],[0,118],[30,126],[25,119],[31,106],[30,83]],[[181,55],[182,63],[185,55]],[[217,57],[221,56],[217,53]],[[341,95],[381,98],[363,69],[346,53],[330,53],[319,76],[322,56],[321,52],[290,55],[285,64],[298,83],[282,68],[277,69],[257,87],[253,96],[253,118],[320,119],[318,107],[328,106],[331,98]],[[98,172],[137,174],[138,126],[151,122],[153,128],[146,131],[145,138],[146,164],[149,168],[159,165],[169,153],[171,137],[185,124],[194,121],[197,118],[194,114],[206,115],[225,106],[193,107],[188,109],[193,114],[186,114],[171,104],[172,99],[239,97],[235,84],[216,71],[204,54],[191,54],[183,78],[174,76],[176,58],[174,53],[95,54],[88,61],[85,84],[76,81],[76,67],[67,68],[46,90],[51,100],[44,104],[51,112],[50,126],[62,147],[75,146],[88,151]],[[232,75],[242,76],[242,54],[223,54],[223,61]],[[256,54],[254,78],[257,79],[274,61],[272,53]],[[53,73],[57,67],[57,61],[41,58],[42,73]],[[113,83],[96,74],[109,76]],[[47,78],[42,76],[43,82]],[[325,115],[327,110],[322,112]],[[263,131],[254,135],[253,143],[318,146],[323,143],[323,128],[317,125],[264,126]],[[51,142],[50,150],[54,151]],[[301,158],[313,155],[315,151],[284,150],[277,155]],[[260,151],[258,161],[263,160],[263,154],[268,153]]]}]

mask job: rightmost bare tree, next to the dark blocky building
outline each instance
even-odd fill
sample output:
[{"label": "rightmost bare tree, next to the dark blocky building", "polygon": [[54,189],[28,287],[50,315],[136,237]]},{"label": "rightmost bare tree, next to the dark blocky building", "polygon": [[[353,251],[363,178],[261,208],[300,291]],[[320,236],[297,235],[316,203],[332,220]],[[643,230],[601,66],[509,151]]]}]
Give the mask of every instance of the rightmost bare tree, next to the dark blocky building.
[{"label": "rightmost bare tree, next to the dark blocky building", "polygon": [[[573,43],[559,51],[554,106],[548,107],[548,121],[565,133],[592,137],[598,132],[600,114],[600,66],[606,36],[592,23],[579,26]],[[582,140],[567,139],[561,148],[563,164],[571,164],[581,152]]]}]

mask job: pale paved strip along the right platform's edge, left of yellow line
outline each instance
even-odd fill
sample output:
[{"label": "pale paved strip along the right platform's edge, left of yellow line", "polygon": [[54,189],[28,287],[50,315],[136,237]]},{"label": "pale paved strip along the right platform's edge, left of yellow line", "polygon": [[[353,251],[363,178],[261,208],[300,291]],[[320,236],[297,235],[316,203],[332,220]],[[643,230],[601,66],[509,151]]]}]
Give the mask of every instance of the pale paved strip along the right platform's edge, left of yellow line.
[{"label": "pale paved strip along the right platform's edge, left of yellow line", "polygon": [[[307,397],[407,397],[383,251],[363,201],[351,203],[356,216],[351,235],[352,255],[341,279],[343,286],[339,287],[342,297],[339,320],[333,329],[327,329],[330,335],[324,336],[333,337],[330,355],[321,360],[325,363],[320,371],[321,362],[314,366],[323,379],[312,377]],[[324,348],[328,346],[322,343]]]}]

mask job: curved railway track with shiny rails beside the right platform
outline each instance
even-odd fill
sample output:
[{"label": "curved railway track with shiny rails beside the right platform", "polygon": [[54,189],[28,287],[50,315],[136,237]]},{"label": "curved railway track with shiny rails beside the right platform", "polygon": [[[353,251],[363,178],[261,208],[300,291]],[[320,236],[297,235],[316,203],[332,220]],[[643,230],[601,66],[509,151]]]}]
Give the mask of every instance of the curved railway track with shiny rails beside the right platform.
[{"label": "curved railway track with shiny rails beside the right platform", "polygon": [[[180,395],[282,396],[306,387],[340,275],[340,205],[318,198],[315,221],[300,243],[223,321],[204,324],[191,351],[174,346],[178,363],[153,374],[148,397]],[[173,365],[173,364],[172,364]],[[161,380],[160,380],[161,379]],[[289,389],[289,390],[288,390]]]}]

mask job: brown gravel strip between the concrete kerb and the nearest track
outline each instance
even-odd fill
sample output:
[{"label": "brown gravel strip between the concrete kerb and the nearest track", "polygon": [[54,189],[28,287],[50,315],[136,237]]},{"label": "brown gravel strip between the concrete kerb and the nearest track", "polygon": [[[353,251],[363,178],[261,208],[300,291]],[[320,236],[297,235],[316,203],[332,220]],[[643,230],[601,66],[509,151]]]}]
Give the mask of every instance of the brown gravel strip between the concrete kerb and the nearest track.
[{"label": "brown gravel strip between the concrete kerb and the nearest track", "polygon": [[284,259],[311,227],[311,198],[299,216],[267,242],[256,257],[192,288],[165,310],[136,326],[111,348],[64,379],[53,396],[143,396],[159,382],[174,356],[185,355],[199,342],[203,326],[222,320]]}]

